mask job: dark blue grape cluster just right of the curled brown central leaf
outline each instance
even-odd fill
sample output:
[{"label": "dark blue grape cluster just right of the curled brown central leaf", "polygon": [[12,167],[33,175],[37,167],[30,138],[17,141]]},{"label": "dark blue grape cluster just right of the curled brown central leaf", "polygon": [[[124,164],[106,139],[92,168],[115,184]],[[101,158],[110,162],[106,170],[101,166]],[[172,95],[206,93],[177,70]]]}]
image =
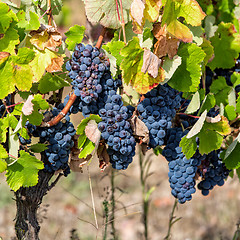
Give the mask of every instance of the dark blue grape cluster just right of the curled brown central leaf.
[{"label": "dark blue grape cluster just right of the curled brown central leaf", "polygon": [[175,109],[180,107],[181,97],[167,84],[159,84],[144,97],[137,110],[149,130],[149,147],[155,148],[164,144],[166,130],[172,126],[171,121],[176,115]]}]

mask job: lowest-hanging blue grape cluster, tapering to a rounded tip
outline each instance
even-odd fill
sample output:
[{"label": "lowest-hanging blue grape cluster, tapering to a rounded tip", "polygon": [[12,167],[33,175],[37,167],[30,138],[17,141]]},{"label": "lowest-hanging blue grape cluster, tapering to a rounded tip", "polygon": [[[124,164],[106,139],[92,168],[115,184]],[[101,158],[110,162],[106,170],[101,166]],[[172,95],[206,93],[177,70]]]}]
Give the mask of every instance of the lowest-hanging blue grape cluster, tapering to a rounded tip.
[{"label": "lowest-hanging blue grape cluster, tapering to a rounded tip", "polygon": [[195,175],[203,157],[196,153],[191,159],[187,159],[182,153],[179,143],[188,131],[181,128],[172,128],[168,131],[168,141],[162,155],[168,160],[168,177],[172,195],[179,203],[185,203],[192,199],[195,189]]}]

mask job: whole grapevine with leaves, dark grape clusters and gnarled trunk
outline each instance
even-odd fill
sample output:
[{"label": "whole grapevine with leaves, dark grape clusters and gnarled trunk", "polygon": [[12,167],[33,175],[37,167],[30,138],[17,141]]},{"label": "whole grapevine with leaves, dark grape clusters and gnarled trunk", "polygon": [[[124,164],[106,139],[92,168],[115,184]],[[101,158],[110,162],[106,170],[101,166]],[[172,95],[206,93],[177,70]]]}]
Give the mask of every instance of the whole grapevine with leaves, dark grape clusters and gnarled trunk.
[{"label": "whole grapevine with leaves, dark grape clusters and gnarled trunk", "polygon": [[59,1],[20,2],[0,3],[0,173],[18,239],[39,239],[44,195],[95,159],[114,176],[139,155],[145,239],[153,190],[141,154],[164,157],[180,204],[240,178],[237,1],[84,0],[94,38],[80,25],[63,37]]}]

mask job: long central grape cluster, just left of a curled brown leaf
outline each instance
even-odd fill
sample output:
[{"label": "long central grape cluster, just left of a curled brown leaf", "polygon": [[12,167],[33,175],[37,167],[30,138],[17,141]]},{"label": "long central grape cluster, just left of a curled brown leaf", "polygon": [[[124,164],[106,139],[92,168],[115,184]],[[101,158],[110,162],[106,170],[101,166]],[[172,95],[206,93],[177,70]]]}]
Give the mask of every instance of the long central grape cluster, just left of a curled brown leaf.
[{"label": "long central grape cluster, just left of a curled brown leaf", "polygon": [[98,124],[98,128],[108,144],[112,167],[126,169],[135,155],[136,142],[128,121],[134,109],[123,106],[122,97],[113,89],[115,87],[112,79],[106,80],[103,86],[105,105],[99,110],[102,122]]}]

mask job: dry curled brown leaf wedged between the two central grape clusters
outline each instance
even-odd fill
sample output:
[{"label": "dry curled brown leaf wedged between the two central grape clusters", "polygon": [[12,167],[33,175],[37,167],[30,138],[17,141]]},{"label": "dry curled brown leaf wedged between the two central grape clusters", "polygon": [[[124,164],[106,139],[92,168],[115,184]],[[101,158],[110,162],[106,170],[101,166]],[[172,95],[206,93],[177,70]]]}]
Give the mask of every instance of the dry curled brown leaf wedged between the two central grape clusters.
[{"label": "dry curled brown leaf wedged between the two central grape clusters", "polygon": [[136,115],[130,119],[133,135],[137,136],[143,143],[149,143],[149,130],[145,123]]}]

